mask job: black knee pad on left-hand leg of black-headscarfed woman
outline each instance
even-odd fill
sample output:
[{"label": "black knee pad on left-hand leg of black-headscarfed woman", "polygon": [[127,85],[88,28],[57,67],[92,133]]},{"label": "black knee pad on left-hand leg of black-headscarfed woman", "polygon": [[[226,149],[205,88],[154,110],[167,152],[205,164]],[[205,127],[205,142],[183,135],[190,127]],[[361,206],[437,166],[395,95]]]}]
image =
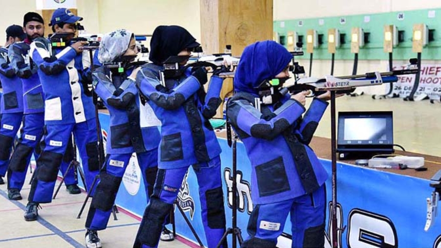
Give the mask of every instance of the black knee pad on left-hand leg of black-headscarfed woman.
[{"label": "black knee pad on left-hand leg of black-headscarfed woman", "polygon": [[172,206],[173,204],[163,202],[156,197],[150,198],[137,235],[139,242],[151,247],[158,245],[162,224],[170,214]]}]

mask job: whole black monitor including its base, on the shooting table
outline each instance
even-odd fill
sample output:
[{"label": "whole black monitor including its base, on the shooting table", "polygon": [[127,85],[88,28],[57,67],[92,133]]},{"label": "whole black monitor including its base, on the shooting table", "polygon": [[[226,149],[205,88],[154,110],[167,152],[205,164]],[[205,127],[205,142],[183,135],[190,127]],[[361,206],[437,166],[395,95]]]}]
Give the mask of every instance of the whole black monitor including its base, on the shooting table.
[{"label": "whole black monitor including its base, on the shooting table", "polygon": [[392,111],[339,112],[337,151],[340,159],[392,153]]}]

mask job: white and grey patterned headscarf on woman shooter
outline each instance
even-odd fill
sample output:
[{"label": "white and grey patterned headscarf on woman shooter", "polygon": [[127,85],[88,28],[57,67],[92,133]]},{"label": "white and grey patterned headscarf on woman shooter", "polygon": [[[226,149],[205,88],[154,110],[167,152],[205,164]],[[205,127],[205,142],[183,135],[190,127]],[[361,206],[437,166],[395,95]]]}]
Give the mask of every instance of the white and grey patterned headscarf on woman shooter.
[{"label": "white and grey patterned headscarf on woman shooter", "polygon": [[106,33],[99,44],[98,60],[102,64],[114,61],[125,53],[133,33],[125,29],[117,29]]}]

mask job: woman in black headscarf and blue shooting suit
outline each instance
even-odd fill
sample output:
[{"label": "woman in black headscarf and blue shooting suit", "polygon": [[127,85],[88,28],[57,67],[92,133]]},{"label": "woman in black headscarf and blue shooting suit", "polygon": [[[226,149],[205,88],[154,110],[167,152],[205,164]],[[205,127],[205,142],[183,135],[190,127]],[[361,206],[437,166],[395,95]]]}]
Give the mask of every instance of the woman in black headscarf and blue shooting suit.
[{"label": "woman in black headscarf and blue shooting suit", "polygon": [[[157,247],[164,219],[190,166],[199,184],[202,220],[209,248],[220,242],[225,231],[221,187],[221,148],[208,121],[216,114],[223,79],[213,74],[207,82],[205,68],[164,73],[170,56],[190,55],[198,47],[196,39],[183,27],[158,26],[151,37],[149,59],[137,74],[136,82],[162,123],[158,175],[136,236],[134,248]],[[181,68],[187,61],[183,61]],[[223,246],[226,248],[226,246]]]}]

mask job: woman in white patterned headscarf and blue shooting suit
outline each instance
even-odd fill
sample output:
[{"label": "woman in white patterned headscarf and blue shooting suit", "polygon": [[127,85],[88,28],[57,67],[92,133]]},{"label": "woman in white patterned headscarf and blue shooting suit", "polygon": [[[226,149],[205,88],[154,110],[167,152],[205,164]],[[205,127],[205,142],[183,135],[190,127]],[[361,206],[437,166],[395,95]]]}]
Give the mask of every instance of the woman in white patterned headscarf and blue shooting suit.
[{"label": "woman in white patterned headscarf and blue shooting suit", "polygon": [[[140,104],[135,85],[140,67],[135,69],[129,64],[137,53],[133,33],[125,29],[104,35],[99,45],[98,59],[102,66],[93,73],[93,85],[109,110],[110,142],[107,142],[107,157],[86,220],[87,248],[101,247],[97,230],[107,227],[125,168],[133,152],[136,152],[141,167],[146,195],[153,193],[160,141],[157,125],[160,122],[148,104]],[[117,61],[121,62],[121,67]]]}]

